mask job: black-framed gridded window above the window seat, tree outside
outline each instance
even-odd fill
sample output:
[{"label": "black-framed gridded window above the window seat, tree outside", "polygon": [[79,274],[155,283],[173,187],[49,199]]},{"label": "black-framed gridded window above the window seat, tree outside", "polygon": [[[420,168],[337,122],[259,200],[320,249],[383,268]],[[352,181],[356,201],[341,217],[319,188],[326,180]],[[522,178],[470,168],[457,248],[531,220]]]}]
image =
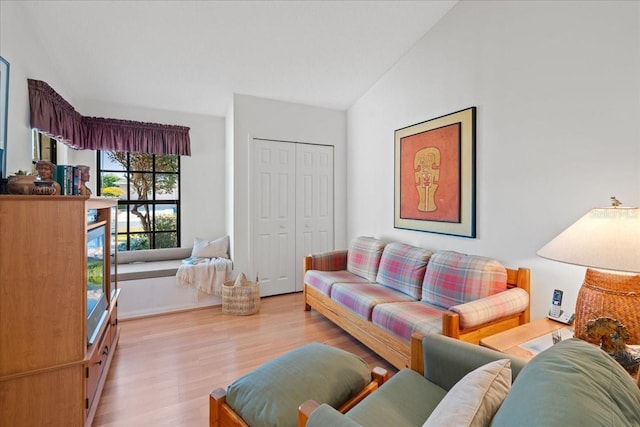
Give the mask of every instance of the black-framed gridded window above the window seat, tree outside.
[{"label": "black-framed gridded window above the window seat, tree outside", "polygon": [[118,250],[177,248],[180,156],[98,151],[98,194],[118,197]]}]

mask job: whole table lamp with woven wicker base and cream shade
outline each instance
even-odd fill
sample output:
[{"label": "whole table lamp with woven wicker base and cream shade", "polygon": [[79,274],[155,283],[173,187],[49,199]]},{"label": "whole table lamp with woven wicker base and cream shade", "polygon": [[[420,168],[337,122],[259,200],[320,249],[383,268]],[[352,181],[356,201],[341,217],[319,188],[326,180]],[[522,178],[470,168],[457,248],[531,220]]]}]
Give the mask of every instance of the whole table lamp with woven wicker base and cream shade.
[{"label": "whole table lamp with woven wicker base and cream shade", "polygon": [[576,299],[576,337],[585,339],[589,320],[608,317],[627,328],[628,344],[640,344],[640,275],[633,274],[640,273],[640,209],[612,197],[610,207],[592,209],[538,255],[588,267]]}]

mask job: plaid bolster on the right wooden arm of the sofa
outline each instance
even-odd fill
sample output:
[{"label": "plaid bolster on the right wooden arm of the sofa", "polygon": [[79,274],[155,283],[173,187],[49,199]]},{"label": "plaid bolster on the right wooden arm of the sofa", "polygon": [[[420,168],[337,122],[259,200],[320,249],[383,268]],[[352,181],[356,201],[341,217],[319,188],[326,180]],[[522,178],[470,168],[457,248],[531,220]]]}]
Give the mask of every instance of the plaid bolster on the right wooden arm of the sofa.
[{"label": "plaid bolster on the right wooden arm of the sofa", "polygon": [[529,294],[524,289],[513,288],[466,304],[450,308],[460,315],[460,327],[472,328],[501,317],[520,313],[529,306]]}]

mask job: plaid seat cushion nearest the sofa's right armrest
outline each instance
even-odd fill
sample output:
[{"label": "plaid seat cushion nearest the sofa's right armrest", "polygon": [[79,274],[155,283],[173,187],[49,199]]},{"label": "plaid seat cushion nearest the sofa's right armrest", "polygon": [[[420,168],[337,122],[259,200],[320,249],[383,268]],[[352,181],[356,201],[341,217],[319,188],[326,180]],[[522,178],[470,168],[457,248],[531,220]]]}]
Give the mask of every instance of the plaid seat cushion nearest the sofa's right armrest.
[{"label": "plaid seat cushion nearest the sofa's right armrest", "polygon": [[378,304],[373,308],[371,322],[409,342],[414,332],[442,333],[443,311],[421,301]]}]

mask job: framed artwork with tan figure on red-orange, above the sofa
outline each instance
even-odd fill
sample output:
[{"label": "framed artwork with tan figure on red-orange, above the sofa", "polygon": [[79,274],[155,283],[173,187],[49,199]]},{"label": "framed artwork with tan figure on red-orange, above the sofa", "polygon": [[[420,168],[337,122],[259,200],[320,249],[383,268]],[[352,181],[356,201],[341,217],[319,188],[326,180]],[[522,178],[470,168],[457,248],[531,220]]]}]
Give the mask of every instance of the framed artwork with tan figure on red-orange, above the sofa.
[{"label": "framed artwork with tan figure on red-orange, above the sofa", "polygon": [[476,107],[395,131],[394,227],[476,237]]}]

